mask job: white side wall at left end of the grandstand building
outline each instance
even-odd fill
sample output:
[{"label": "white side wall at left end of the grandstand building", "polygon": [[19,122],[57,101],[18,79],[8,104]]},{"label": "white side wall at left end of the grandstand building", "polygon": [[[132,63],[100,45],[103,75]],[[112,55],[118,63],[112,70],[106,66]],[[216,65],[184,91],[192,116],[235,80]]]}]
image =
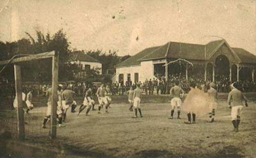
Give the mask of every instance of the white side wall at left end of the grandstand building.
[{"label": "white side wall at left end of the grandstand building", "polygon": [[153,61],[142,61],[140,65],[116,68],[116,81],[119,81],[119,74],[123,74],[124,83],[127,81],[127,75],[131,73],[131,80],[135,82],[135,73],[139,74],[139,81],[142,83],[148,78],[154,78]]}]

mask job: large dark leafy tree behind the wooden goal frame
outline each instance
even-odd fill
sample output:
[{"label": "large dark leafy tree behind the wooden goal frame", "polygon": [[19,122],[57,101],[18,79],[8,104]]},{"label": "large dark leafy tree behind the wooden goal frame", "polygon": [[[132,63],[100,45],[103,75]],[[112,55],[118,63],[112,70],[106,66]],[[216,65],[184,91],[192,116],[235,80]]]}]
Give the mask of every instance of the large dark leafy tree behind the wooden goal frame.
[{"label": "large dark leafy tree behind the wooden goal frame", "polygon": [[[53,36],[50,36],[49,33],[44,36],[40,31],[36,33],[36,39],[26,32],[28,39],[23,38],[11,43],[0,42],[1,60],[11,59],[17,54],[38,54],[54,50],[59,52],[59,79],[72,79],[71,67],[67,63],[68,54],[71,52],[70,42],[68,42],[63,30],[57,31]],[[52,79],[52,62],[50,59],[29,61],[23,63],[22,67],[25,81],[51,81]],[[7,69],[5,71],[13,72],[13,70]]]}]

